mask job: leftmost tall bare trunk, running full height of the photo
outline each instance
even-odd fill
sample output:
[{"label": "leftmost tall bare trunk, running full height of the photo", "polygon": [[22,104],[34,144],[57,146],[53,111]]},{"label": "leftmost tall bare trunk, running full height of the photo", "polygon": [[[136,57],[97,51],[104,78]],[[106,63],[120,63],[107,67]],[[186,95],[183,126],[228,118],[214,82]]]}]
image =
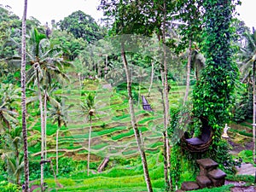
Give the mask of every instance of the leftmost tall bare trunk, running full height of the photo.
[{"label": "leftmost tall bare trunk, running full height of the photo", "polygon": [[21,40],[21,113],[22,113],[22,135],[24,143],[24,174],[25,174],[25,192],[29,191],[29,166],[27,150],[27,133],[26,133],[26,9],[27,0],[24,0],[24,13],[22,17],[22,40]]}]

